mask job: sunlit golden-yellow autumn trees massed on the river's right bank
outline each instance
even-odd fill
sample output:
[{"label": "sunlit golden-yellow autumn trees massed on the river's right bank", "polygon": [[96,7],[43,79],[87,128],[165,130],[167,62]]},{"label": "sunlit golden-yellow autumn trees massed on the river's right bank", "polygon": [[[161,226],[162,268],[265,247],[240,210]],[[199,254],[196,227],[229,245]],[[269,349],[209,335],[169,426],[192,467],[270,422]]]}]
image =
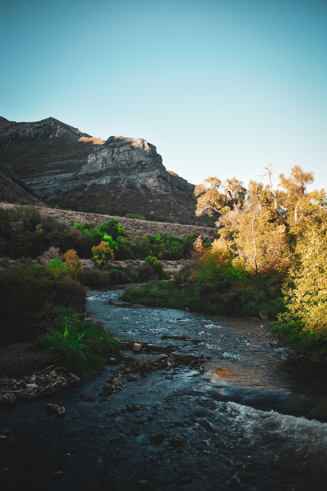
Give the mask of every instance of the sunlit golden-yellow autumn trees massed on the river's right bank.
[{"label": "sunlit golden-yellow autumn trees massed on the river's right bank", "polygon": [[[220,239],[207,251],[196,244],[199,260],[191,280],[210,302],[228,298],[236,312],[247,313],[254,303],[267,305],[268,294],[278,305],[283,295],[274,333],[296,351],[327,358],[326,191],[308,192],[313,172],[299,165],[289,176],[279,175],[281,190],[273,188],[272,164],[263,170],[268,184],[250,181],[246,193],[236,178],[231,184],[234,189],[239,184],[238,194],[216,177],[196,186],[197,214],[217,214]],[[239,307],[240,296],[247,306]],[[271,307],[257,313],[273,318]]]}]

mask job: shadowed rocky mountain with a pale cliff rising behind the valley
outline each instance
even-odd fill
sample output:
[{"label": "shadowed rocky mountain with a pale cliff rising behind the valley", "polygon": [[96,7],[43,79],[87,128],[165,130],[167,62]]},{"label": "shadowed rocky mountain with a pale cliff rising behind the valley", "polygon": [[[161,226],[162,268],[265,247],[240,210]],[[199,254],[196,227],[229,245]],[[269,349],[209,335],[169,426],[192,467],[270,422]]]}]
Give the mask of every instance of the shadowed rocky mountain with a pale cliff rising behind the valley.
[{"label": "shadowed rocky mountain with a pale cliff rising behind the valley", "polygon": [[208,224],[194,214],[194,185],[167,171],[142,138],[103,142],[52,117],[32,123],[1,117],[0,170],[61,208]]}]

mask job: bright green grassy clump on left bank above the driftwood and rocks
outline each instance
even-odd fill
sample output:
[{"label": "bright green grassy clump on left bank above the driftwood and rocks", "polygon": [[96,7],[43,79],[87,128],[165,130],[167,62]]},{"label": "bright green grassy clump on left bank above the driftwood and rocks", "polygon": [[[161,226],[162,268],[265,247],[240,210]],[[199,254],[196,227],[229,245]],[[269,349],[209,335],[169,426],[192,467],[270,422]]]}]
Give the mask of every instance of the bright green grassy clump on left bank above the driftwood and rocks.
[{"label": "bright green grassy clump on left bank above the driftwood and rocks", "polygon": [[64,366],[79,377],[91,379],[111,356],[120,355],[119,343],[101,324],[86,321],[84,314],[61,309],[53,328],[36,341],[44,361]]}]

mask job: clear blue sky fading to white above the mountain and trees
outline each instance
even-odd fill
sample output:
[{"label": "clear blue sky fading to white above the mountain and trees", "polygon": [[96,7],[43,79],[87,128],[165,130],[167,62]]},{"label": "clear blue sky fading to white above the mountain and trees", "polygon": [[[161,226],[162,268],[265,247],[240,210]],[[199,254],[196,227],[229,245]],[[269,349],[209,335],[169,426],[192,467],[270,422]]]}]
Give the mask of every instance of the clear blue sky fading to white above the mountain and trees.
[{"label": "clear blue sky fading to white above the mountain and trees", "polygon": [[327,1],[4,0],[0,96],[10,120],[140,136],[195,184],[270,160],[327,188]]}]

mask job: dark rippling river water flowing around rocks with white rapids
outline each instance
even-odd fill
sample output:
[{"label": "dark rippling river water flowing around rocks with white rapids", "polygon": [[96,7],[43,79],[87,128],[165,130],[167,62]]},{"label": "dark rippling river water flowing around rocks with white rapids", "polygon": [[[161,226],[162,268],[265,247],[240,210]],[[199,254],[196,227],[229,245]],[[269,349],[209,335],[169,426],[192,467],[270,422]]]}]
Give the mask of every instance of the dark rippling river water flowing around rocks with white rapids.
[{"label": "dark rippling river water flowing around rocks with white rapids", "polygon": [[[9,469],[2,475],[8,489],[327,489],[321,366],[277,348],[260,321],[133,306],[118,300],[122,292],[90,291],[90,316],[120,339],[202,355],[203,373],[188,365],[138,373],[105,399],[99,391],[116,368],[108,366],[77,389],[6,409],[1,421],[13,436],[0,449],[0,468]],[[83,395],[97,400],[86,403]],[[47,402],[67,416],[46,415]],[[128,403],[139,412],[126,411]],[[159,433],[165,439],[155,443]],[[182,450],[172,438],[183,441]],[[56,469],[58,482],[49,478]]]}]

